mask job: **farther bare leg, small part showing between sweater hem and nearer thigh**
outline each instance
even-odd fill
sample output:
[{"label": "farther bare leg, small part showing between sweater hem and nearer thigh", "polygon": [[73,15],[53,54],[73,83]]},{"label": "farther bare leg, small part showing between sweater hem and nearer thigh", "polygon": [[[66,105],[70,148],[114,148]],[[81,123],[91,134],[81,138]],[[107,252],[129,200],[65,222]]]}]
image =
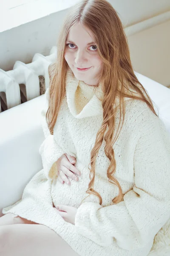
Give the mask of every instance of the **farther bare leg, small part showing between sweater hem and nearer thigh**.
[{"label": "farther bare leg, small part showing between sweater hem and nearer thigh", "polygon": [[0,226],[3,225],[11,225],[11,224],[37,224],[33,221],[28,221],[25,218],[21,218],[18,215],[15,215],[14,213],[7,213],[0,217]]}]

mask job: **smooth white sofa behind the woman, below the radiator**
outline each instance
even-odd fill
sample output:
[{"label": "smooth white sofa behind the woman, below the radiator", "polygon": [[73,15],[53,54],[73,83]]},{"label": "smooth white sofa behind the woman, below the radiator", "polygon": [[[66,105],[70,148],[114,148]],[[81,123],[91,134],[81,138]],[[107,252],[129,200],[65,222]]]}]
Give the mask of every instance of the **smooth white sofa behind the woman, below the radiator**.
[{"label": "smooth white sofa behind the woman, below the radiator", "polygon": [[[170,89],[135,74],[170,133]],[[42,169],[39,148],[45,138],[40,111],[44,100],[42,95],[0,113],[0,216],[2,208],[18,201],[28,181]]]}]

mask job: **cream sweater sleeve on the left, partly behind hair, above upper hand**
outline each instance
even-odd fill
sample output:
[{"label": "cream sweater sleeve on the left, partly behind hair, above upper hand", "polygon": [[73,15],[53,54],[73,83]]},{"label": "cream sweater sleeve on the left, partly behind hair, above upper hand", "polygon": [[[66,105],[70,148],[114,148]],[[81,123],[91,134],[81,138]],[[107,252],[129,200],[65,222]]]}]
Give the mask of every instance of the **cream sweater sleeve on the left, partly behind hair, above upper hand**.
[{"label": "cream sweater sleeve on the left, partly behind hair, above upper hand", "polygon": [[59,157],[62,156],[62,154],[65,154],[65,152],[58,145],[54,135],[50,134],[45,119],[45,115],[48,109],[48,90],[49,88],[45,92],[45,102],[41,110],[41,124],[45,140],[40,145],[39,153],[42,157],[42,166],[45,172],[45,176],[47,177],[47,179],[53,180],[54,178],[57,177],[56,161],[59,159]]}]

